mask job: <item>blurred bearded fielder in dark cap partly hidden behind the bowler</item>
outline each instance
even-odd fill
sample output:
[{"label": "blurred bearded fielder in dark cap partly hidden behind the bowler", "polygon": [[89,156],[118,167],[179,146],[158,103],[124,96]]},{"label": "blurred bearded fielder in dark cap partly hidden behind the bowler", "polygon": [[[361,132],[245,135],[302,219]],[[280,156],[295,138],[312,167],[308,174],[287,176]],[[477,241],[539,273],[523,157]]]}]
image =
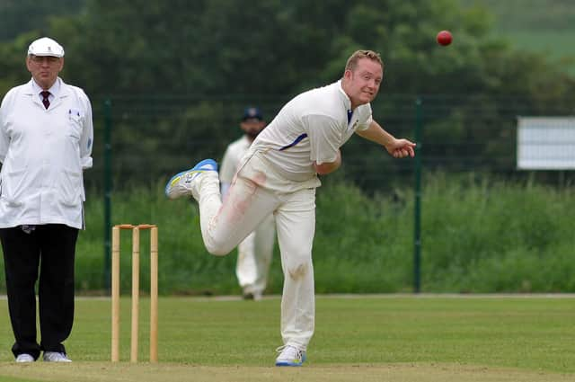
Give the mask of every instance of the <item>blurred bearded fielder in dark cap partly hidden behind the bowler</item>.
[{"label": "blurred bearded fielder in dark cap partly hidden behind the bowler", "polygon": [[[253,139],[266,127],[261,111],[250,107],[243,112],[240,128],[243,137],[232,142],[227,148],[219,172],[222,200],[234,180],[243,155],[247,152]],[[266,289],[270,272],[271,255],[276,235],[273,214],[264,218],[261,224],[237,246],[235,275],[243,290],[244,299],[260,300]]]}]

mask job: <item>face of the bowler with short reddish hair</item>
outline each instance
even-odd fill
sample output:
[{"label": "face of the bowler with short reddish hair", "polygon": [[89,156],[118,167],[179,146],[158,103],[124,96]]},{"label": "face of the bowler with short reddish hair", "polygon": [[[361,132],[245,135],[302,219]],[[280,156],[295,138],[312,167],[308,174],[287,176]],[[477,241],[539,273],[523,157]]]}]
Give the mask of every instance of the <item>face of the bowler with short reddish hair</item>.
[{"label": "face of the bowler with short reddish hair", "polygon": [[347,93],[354,107],[372,102],[379,92],[379,85],[384,78],[384,70],[379,62],[370,58],[360,58],[358,66],[346,70],[344,76],[349,80]]}]

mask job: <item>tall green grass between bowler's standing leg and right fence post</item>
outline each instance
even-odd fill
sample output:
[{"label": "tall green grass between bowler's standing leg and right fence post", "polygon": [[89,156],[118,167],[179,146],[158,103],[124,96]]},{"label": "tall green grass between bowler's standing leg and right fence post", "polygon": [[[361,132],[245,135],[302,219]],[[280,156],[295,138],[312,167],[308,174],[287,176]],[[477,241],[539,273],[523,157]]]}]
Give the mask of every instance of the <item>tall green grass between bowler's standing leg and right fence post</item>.
[{"label": "tall green grass between bowler's standing leg and right fence post", "polygon": [[318,190],[316,220],[314,270],[319,293],[407,288],[409,209],[390,198],[368,198],[355,187],[332,182]]}]

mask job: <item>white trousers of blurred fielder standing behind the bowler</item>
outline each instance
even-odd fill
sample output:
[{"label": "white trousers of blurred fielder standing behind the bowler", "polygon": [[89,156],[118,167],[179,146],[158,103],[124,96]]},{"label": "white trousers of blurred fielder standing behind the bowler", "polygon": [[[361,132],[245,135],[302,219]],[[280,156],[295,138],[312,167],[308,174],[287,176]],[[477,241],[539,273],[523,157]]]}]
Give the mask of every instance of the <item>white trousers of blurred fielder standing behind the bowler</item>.
[{"label": "white trousers of blurred fielder standing behind the bowler", "polygon": [[235,276],[244,294],[261,296],[266,289],[275,237],[274,218],[269,215],[237,246]]}]

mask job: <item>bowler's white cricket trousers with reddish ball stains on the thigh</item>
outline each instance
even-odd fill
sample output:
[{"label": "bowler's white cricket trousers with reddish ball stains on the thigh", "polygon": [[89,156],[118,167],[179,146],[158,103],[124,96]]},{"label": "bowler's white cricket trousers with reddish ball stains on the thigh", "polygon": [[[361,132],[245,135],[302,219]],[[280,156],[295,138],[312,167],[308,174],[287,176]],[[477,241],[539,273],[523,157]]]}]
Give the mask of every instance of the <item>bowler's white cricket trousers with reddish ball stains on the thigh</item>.
[{"label": "bowler's white cricket trousers with reddish ball stains on the thigh", "polygon": [[305,351],[314,334],[315,189],[277,190],[282,184],[296,189],[297,183],[294,187],[293,182],[281,179],[257,155],[240,168],[223,203],[216,172],[202,173],[198,180],[194,197],[199,202],[201,235],[209,253],[230,253],[273,213],[284,273],[281,336],[285,345]]}]

